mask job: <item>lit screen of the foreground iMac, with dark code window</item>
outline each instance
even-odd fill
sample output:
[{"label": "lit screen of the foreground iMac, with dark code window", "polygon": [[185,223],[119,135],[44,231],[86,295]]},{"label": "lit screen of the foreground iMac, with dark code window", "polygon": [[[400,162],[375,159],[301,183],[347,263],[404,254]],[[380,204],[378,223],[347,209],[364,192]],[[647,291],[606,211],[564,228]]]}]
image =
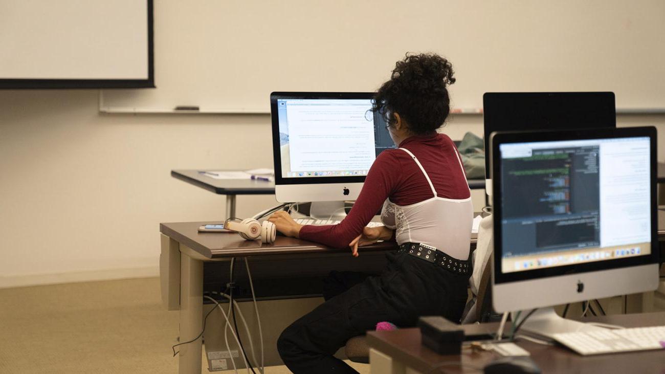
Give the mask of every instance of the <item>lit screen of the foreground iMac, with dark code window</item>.
[{"label": "lit screen of the foreground iMac, with dark code window", "polygon": [[651,253],[650,139],[500,144],[503,273]]}]

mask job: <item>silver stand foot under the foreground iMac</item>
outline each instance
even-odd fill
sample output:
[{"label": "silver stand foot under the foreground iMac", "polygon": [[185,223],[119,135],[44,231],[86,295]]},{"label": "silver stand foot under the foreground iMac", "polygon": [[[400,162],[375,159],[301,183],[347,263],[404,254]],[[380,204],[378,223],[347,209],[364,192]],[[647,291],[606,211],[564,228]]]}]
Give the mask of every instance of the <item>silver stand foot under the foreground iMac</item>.
[{"label": "silver stand foot under the foreground iMac", "polygon": [[[527,311],[522,311],[521,315],[526,315]],[[519,323],[519,321],[518,321]],[[603,327],[589,325],[571,319],[565,319],[554,311],[553,307],[545,307],[535,311],[529,319],[527,319],[520,330],[526,331],[531,335],[539,335],[554,339],[555,333],[574,333],[574,332],[589,332],[589,331],[606,331]]]}]

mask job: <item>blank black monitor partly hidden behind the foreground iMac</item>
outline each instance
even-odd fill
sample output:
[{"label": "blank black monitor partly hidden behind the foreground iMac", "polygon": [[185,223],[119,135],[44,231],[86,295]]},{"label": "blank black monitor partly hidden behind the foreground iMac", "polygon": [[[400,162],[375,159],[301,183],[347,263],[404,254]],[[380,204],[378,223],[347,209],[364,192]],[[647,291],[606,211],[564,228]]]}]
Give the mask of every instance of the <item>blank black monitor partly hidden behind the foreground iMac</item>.
[{"label": "blank black monitor partly hidden behind the foreground iMac", "polygon": [[493,131],[616,127],[614,93],[485,93],[485,178]]}]

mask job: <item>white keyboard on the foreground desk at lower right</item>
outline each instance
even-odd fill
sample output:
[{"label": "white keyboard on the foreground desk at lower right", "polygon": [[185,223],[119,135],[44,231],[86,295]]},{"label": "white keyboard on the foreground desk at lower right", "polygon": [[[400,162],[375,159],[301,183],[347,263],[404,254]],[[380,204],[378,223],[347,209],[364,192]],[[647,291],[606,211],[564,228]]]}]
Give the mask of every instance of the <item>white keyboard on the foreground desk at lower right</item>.
[{"label": "white keyboard on the foreground desk at lower right", "polygon": [[665,348],[665,326],[558,333],[554,339],[581,355]]}]

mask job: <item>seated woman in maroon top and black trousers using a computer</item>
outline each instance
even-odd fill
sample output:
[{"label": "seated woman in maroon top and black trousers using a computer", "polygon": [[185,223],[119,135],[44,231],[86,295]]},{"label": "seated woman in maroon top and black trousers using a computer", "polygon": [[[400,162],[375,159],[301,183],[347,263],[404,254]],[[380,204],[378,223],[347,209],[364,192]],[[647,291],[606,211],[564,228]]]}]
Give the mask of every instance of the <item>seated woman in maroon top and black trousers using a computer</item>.
[{"label": "seated woman in maroon top and black trousers using a computer", "polygon": [[[450,113],[452,65],[434,54],[407,55],[376,93],[372,110],[386,118],[398,149],[370,168],[358,200],[340,224],[302,226],[287,212],[269,220],[279,232],[327,246],[397,241],[380,276],[366,278],[298,319],[277,349],[294,373],[355,373],[333,354],[380,321],[416,325],[421,315],[459,321],[471,274],[471,194],[454,143],[436,130]],[[384,226],[366,228],[383,206]]]}]

